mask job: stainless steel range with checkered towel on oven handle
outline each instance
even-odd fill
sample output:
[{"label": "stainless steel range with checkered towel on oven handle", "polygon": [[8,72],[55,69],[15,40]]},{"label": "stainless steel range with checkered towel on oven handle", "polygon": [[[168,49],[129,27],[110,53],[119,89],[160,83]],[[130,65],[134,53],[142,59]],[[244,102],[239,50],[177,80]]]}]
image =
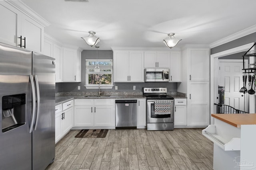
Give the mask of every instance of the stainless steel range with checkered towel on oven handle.
[{"label": "stainless steel range with checkered towel on oven handle", "polygon": [[144,88],[147,98],[147,130],[174,129],[174,98],[167,95],[167,88]]}]

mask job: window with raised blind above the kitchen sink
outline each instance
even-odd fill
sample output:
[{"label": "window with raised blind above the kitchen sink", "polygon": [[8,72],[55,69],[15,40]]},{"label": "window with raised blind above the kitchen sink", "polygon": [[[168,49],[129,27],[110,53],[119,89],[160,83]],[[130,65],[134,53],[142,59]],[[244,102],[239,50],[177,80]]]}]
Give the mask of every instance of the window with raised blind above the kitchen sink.
[{"label": "window with raised blind above the kitchen sink", "polygon": [[[98,63],[100,72],[94,72]],[[86,88],[113,87],[113,60],[86,60]]]}]

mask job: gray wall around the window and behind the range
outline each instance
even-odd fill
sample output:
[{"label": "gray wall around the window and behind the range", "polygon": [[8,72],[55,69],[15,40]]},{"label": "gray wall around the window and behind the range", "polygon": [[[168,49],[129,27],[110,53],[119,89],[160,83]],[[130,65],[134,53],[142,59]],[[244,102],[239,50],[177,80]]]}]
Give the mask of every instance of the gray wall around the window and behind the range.
[{"label": "gray wall around the window and behind the range", "polygon": [[[82,82],[70,82],[70,83],[56,83],[56,92],[95,92],[96,89],[86,89],[85,86],[85,60],[96,59],[96,50],[84,50],[81,54],[81,68],[82,68]],[[98,59],[113,59],[112,50],[98,50]],[[113,83],[114,86],[118,86],[118,90],[115,87],[112,89],[104,89],[104,91],[111,92],[142,92],[143,87],[167,87],[168,92],[177,91],[177,83],[169,82],[146,82],[146,83]],[[78,90],[78,86],[81,89]],[[136,90],[133,90],[133,86],[136,86]]]}]

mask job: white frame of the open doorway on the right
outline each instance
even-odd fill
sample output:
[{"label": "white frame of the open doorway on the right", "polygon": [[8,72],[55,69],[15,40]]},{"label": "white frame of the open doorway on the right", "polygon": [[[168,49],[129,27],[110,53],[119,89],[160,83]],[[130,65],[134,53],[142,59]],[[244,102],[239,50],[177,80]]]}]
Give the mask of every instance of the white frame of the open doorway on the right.
[{"label": "white frame of the open doorway on the right", "polygon": [[[221,51],[219,53],[215,53],[210,55],[210,113],[215,113],[215,107],[214,103],[218,102],[218,58],[223,57],[226,55],[232,55],[235,53],[240,53],[243,51],[247,51],[252,47],[254,43],[249,43],[246,45],[242,45],[239,47],[235,47],[232,49],[228,49],[226,51]],[[255,47],[253,47],[250,51],[254,50]],[[250,58],[251,59],[251,58]],[[254,59],[250,60],[250,63],[254,63]],[[254,95],[250,95],[250,113],[255,112],[255,99]],[[210,117],[210,124],[214,124],[214,118]]]}]

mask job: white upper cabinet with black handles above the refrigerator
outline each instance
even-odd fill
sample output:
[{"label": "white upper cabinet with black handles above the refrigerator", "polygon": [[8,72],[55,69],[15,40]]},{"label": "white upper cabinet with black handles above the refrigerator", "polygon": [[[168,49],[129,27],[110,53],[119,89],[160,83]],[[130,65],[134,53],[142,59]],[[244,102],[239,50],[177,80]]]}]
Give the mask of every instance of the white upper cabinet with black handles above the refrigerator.
[{"label": "white upper cabinet with black handles above the refrigerator", "polygon": [[0,1],[0,42],[42,53],[50,25],[21,1]]}]

